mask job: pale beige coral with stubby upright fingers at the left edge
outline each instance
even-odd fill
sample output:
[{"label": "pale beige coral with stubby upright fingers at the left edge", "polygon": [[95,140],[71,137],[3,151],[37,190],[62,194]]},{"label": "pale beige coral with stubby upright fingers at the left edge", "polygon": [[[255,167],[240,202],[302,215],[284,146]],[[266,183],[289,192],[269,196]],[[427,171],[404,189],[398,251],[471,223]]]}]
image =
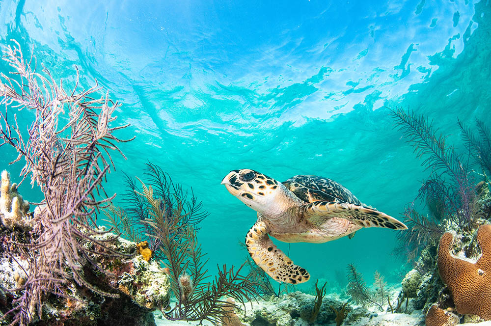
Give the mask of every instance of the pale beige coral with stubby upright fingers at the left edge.
[{"label": "pale beige coral with stubby upright fingers at the left edge", "polygon": [[29,203],[23,200],[17,191],[17,184],[10,184],[10,174],[3,170],[0,186],[0,221],[9,229],[19,226],[23,229],[32,227],[31,218],[27,216]]}]

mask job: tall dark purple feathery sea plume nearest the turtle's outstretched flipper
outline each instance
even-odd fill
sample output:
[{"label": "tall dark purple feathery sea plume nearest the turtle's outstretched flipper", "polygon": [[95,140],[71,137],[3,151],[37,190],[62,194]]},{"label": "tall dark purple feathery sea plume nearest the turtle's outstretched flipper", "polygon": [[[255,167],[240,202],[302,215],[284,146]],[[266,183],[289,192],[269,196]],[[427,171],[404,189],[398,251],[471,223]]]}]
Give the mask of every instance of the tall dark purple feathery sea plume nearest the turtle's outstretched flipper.
[{"label": "tall dark purple feathery sea plume nearest the turtle's outstretched flipper", "polygon": [[[416,197],[426,203],[431,216],[422,215],[414,209],[414,204],[409,205],[404,221],[410,230],[397,235],[401,243],[399,251],[406,253],[408,261],[413,261],[426,245],[436,245],[445,231],[443,220],[463,229],[473,226],[477,218],[476,190],[469,158],[457,154],[447,137],[438,134],[432,121],[410,110],[390,109],[390,115],[396,121],[396,128],[408,138],[416,156],[423,158],[421,165],[431,169]],[[484,125],[482,128],[484,132]],[[473,139],[470,132],[467,135]]]}]

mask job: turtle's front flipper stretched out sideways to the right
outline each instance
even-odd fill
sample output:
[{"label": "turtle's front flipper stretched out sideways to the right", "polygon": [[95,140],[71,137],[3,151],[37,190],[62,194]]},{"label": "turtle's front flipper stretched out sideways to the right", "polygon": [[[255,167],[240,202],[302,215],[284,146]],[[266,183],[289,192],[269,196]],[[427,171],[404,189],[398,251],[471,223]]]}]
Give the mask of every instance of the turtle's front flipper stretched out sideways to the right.
[{"label": "turtle's front flipper stretched out sideways to the right", "polygon": [[351,203],[315,201],[305,206],[303,215],[314,225],[322,225],[326,219],[338,217],[361,227],[387,227],[393,230],[408,228],[404,223],[385,213]]}]

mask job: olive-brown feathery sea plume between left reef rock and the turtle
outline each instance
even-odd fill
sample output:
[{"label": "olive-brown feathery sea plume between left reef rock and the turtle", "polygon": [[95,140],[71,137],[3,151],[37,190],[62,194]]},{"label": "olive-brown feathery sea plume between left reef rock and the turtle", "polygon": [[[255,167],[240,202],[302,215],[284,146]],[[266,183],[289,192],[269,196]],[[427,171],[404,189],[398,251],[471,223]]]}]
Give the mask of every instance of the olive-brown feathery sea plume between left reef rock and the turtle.
[{"label": "olive-brown feathery sea plume between left reef rock and the turtle", "polygon": [[[176,303],[163,311],[168,320],[209,321],[217,325],[227,318],[227,307],[233,306],[230,300],[249,301],[258,296],[256,283],[251,274],[240,274],[244,264],[234,271],[225,265],[218,268],[218,274],[212,282],[205,269],[205,253],[197,241],[194,225],[189,222],[190,211],[174,210],[169,216],[168,206],[163,202],[162,189],[154,190],[140,179],[141,191],[135,193],[148,203],[148,224],[152,232],[148,233],[157,240],[162,263],[168,272],[171,290]],[[157,249],[157,248],[156,248]]]}]

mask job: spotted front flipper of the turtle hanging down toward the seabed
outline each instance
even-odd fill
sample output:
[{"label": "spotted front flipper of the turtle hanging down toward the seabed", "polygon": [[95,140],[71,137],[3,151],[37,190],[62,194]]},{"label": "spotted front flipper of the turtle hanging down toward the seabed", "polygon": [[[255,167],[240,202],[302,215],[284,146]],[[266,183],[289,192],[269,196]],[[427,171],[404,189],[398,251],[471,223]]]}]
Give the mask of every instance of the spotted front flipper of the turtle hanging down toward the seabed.
[{"label": "spotted front flipper of the turtle hanging down toward the seabed", "polygon": [[246,247],[254,262],[278,282],[299,284],[306,282],[310,274],[293,264],[283,251],[273,244],[269,226],[258,220],[246,235]]}]

